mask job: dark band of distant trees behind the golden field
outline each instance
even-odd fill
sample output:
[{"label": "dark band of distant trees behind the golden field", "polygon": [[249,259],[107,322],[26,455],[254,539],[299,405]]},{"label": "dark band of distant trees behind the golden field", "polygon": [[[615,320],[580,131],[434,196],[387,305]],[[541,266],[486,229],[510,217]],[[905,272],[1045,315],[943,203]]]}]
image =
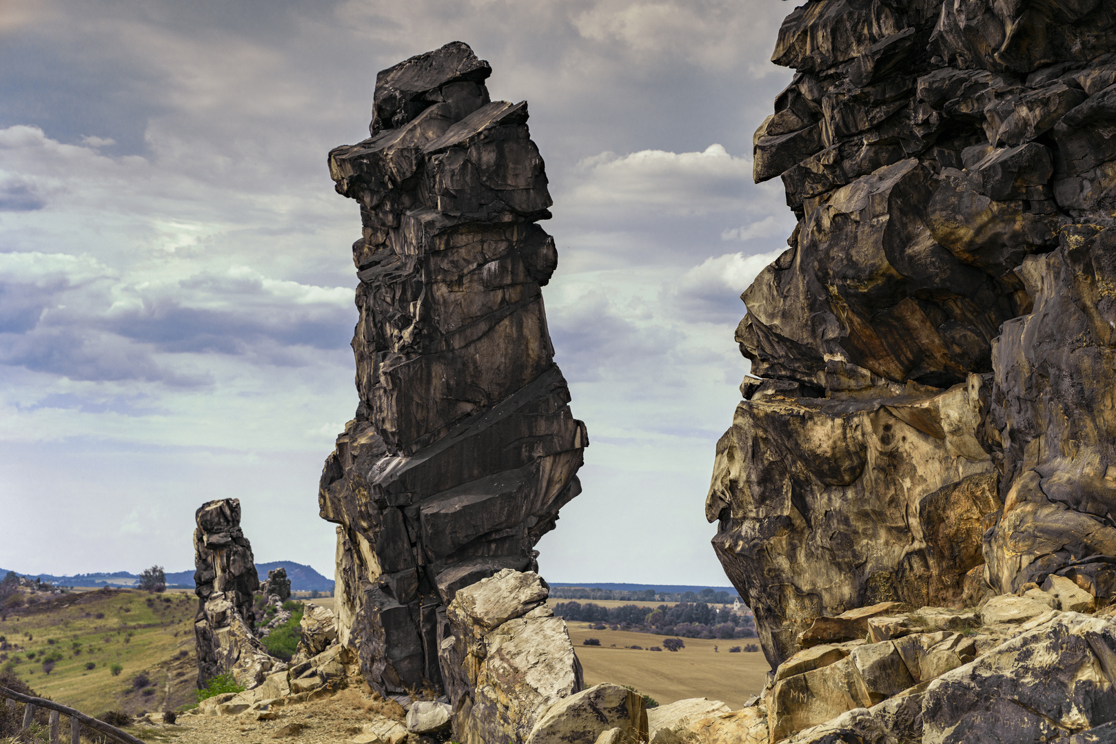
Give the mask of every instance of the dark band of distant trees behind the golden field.
[{"label": "dark band of distant trees behind the golden field", "polygon": [[750,615],[735,615],[705,602],[680,602],[674,607],[624,605],[602,607],[593,602],[558,602],[555,615],[567,620],[593,622],[597,629],[654,632],[683,638],[754,638],[756,626]]}]

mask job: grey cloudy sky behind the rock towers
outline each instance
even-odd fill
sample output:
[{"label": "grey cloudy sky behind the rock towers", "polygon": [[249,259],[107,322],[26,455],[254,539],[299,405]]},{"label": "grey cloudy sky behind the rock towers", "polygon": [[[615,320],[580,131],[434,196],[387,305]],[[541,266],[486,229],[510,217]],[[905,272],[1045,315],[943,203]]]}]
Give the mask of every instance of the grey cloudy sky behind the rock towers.
[{"label": "grey cloudy sky behind the rock towers", "polygon": [[0,0],[0,567],[192,566],[237,496],[258,560],[333,574],[317,481],[356,406],[354,202],[377,70],[462,40],[527,99],[545,290],[593,442],[554,581],[727,584],[703,502],[786,245],[751,135],[776,0]]}]

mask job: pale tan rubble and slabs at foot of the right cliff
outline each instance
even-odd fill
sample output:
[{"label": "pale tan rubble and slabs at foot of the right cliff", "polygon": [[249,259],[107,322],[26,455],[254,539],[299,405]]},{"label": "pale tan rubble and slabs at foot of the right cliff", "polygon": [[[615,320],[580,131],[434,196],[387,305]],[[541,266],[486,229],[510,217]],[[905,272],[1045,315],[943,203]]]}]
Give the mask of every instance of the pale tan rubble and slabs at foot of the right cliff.
[{"label": "pale tan rubble and slabs at foot of the right cliff", "polygon": [[881,602],[819,617],[742,711],[681,700],[651,744],[1116,740],[1116,606],[1068,579],[977,610]]}]

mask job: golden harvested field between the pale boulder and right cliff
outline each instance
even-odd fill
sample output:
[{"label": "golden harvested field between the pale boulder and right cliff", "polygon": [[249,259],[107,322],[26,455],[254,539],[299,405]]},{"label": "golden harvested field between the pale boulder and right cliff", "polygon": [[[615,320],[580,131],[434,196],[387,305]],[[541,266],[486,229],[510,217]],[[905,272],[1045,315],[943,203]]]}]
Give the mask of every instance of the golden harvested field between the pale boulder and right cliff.
[{"label": "golden harvested field between the pale boulder and right cliff", "polygon": [[[631,685],[664,705],[686,697],[708,697],[724,700],[733,709],[741,708],[750,695],[763,688],[770,670],[762,653],[729,654],[731,646],[758,644],[754,638],[684,638],[686,647],[681,651],[648,651],[624,647],[661,647],[664,636],[591,630],[588,622],[569,622],[568,626],[577,657],[581,659],[586,685],[603,682]],[[597,638],[600,646],[583,646],[586,638]]]}]

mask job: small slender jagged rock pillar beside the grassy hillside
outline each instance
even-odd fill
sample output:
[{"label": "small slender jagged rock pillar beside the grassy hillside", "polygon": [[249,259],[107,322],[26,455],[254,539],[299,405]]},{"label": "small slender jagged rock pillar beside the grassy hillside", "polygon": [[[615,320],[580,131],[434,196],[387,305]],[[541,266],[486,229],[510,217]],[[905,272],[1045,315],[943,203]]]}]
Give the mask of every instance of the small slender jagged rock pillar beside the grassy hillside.
[{"label": "small slender jagged rock pillar beside the grassy hillside", "polygon": [[260,579],[252,545],[240,529],[240,500],[208,501],[194,519],[198,687],[225,673],[254,687],[279,661],[256,639],[252,601]]}]

